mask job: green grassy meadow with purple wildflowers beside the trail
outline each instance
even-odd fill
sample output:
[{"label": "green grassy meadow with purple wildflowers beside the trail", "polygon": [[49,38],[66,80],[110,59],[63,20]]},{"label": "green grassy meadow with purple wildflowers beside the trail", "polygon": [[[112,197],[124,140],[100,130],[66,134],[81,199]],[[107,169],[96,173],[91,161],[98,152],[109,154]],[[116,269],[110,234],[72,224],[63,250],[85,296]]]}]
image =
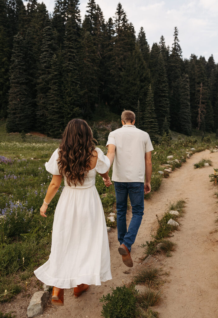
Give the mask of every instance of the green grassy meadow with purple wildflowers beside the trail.
[{"label": "green grassy meadow with purple wildflowers beside the trail", "polygon": [[[107,130],[107,129],[105,129]],[[101,132],[103,136],[103,132]],[[106,135],[106,134],[105,134]],[[100,147],[105,153],[105,139],[100,139]],[[45,169],[53,151],[58,148],[59,139],[30,134],[7,134],[5,123],[0,124],[0,301],[9,301],[33,276],[33,270],[42,265],[50,254],[52,224],[55,206],[58,202],[63,182],[58,193],[47,209],[47,218],[42,218],[39,208],[52,179]],[[152,154],[152,192],[158,190],[162,177],[158,170],[167,163],[167,156],[173,155],[179,162],[171,162],[172,169],[186,161],[190,155],[215,146],[213,136],[203,141],[196,137],[174,136],[155,145]],[[196,150],[191,152],[191,148]],[[111,174],[111,171],[110,171]],[[102,199],[105,216],[115,209],[114,187],[106,188],[102,178],[96,176],[96,188]],[[107,193],[107,195],[103,195]],[[145,198],[150,197],[146,195]],[[111,225],[107,222],[107,225]]]}]

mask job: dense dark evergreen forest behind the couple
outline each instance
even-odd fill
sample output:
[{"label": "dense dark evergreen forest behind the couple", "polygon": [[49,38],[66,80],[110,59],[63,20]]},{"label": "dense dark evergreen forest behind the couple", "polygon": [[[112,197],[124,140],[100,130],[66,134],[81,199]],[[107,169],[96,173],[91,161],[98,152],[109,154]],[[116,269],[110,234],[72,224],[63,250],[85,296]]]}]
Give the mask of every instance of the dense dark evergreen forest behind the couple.
[{"label": "dense dark evergreen forest behind the couple", "polygon": [[183,59],[179,30],[150,47],[121,3],[108,21],[95,0],[81,20],[79,0],[0,0],[0,118],[8,132],[60,137],[75,117],[110,121],[129,109],[137,128],[157,135],[192,129],[218,135],[218,64]]}]

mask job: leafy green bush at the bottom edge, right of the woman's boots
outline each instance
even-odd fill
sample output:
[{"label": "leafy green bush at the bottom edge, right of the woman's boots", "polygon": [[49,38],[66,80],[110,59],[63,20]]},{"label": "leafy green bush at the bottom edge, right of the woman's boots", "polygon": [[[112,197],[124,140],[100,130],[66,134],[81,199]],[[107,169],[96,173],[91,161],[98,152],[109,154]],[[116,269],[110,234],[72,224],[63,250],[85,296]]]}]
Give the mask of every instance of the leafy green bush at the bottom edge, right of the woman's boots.
[{"label": "leafy green bush at the bottom edge, right of the woman's boots", "polygon": [[137,291],[132,285],[126,287],[111,288],[112,293],[103,295],[100,302],[102,306],[102,317],[104,318],[135,318]]}]

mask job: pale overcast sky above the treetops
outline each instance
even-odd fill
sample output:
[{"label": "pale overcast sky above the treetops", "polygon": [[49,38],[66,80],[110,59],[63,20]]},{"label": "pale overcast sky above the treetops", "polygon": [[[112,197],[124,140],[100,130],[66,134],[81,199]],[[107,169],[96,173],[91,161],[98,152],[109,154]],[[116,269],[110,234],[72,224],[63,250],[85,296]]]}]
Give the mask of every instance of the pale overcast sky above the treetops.
[{"label": "pale overcast sky above the treetops", "polygon": [[[42,1],[40,1],[42,2]],[[53,12],[54,0],[44,0],[49,12]],[[81,17],[86,12],[88,0],[80,1]],[[118,0],[95,0],[106,20],[113,17]],[[183,58],[194,53],[206,59],[211,54],[218,62],[218,0],[121,0],[129,22],[136,35],[143,26],[150,45],[165,37],[166,46],[172,46],[174,27],[179,29]]]}]

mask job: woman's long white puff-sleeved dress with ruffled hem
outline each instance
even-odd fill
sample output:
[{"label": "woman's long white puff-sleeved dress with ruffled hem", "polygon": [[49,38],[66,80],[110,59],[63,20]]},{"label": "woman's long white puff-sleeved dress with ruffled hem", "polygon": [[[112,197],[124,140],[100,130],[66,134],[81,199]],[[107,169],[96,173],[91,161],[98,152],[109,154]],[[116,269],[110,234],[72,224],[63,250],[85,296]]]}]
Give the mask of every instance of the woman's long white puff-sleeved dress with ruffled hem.
[{"label": "woman's long white puff-sleeved dress with ruffled hem", "polygon": [[[97,163],[88,172],[84,184],[65,187],[54,213],[51,254],[37,268],[36,277],[49,286],[72,288],[80,284],[101,285],[112,279],[108,233],[101,199],[95,187],[96,172],[105,173],[108,157],[99,148]],[[59,175],[58,149],[45,167]]]}]

